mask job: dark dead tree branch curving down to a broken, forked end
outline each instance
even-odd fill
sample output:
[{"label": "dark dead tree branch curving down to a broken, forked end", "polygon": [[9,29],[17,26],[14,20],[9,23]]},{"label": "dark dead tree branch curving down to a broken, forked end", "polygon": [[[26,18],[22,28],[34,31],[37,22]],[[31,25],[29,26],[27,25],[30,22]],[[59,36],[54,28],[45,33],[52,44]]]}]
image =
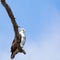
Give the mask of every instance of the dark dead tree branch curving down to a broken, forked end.
[{"label": "dark dead tree branch curving down to a broken, forked end", "polygon": [[13,25],[13,29],[15,32],[15,37],[14,40],[12,42],[12,46],[11,46],[11,59],[14,58],[14,56],[18,53],[18,52],[24,52],[21,47],[20,47],[20,42],[21,42],[21,36],[19,35],[19,31],[18,31],[18,25],[16,23],[15,17],[11,11],[11,8],[9,7],[9,5],[6,3],[5,0],[1,0],[1,4],[3,5],[3,7],[6,9],[8,16],[11,19],[12,25]]}]

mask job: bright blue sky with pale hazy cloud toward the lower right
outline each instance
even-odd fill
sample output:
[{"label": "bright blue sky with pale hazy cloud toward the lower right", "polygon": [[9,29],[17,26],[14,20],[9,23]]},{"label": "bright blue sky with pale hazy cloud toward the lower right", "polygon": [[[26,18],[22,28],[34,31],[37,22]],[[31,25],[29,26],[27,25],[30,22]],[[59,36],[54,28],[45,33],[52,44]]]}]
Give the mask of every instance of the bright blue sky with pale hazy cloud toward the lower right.
[{"label": "bright blue sky with pale hazy cloud toward the lower right", "polygon": [[[6,0],[16,22],[26,30],[27,54],[14,60],[60,60],[60,0]],[[0,3],[0,60],[10,60],[14,31]]]}]

